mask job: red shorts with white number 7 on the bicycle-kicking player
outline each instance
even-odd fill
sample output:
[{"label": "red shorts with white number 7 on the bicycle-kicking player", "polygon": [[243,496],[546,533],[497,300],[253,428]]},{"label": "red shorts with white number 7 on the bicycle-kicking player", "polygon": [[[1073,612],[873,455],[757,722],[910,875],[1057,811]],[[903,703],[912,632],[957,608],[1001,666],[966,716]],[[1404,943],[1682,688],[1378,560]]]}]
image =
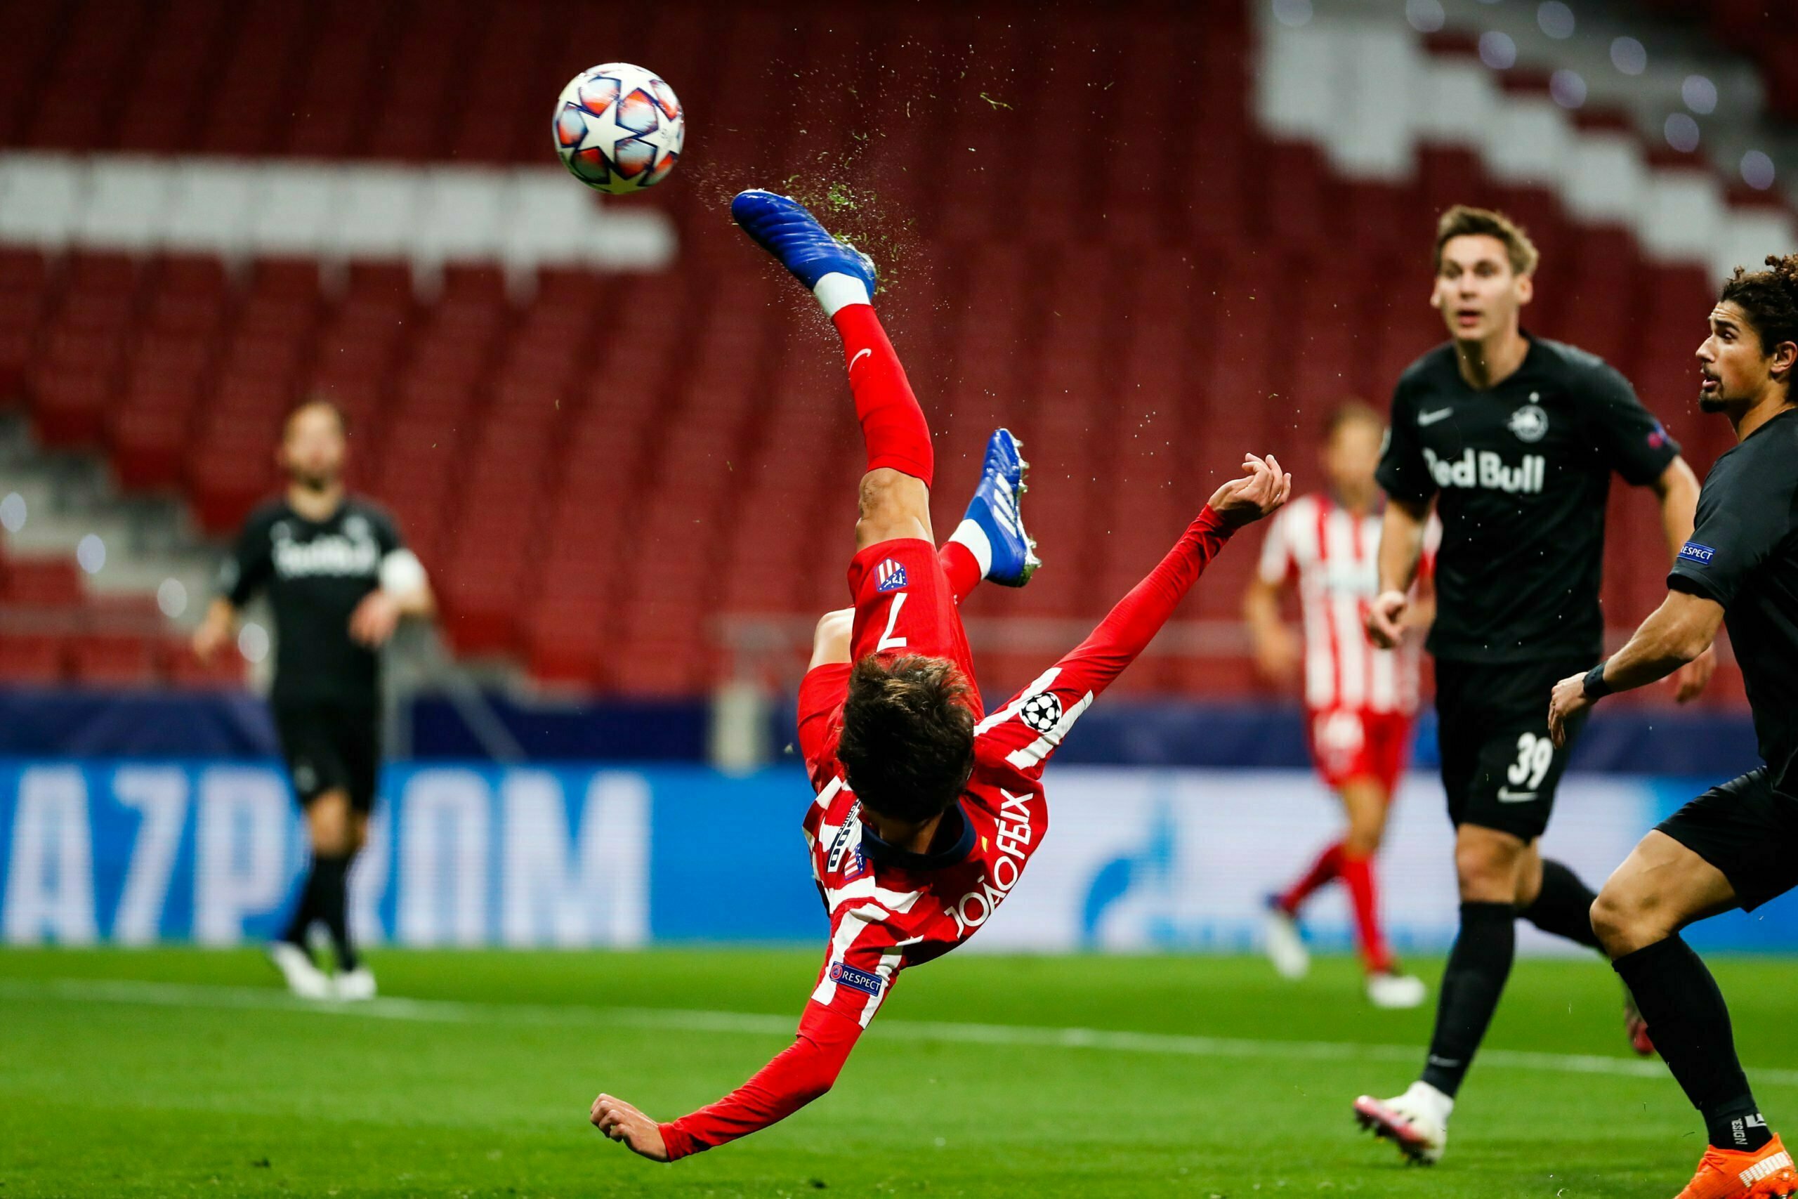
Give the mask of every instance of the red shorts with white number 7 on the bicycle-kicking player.
[{"label": "red shorts with white number 7 on the bicycle-kicking player", "polygon": [[[861,662],[868,654],[948,658],[967,676],[975,717],[984,715],[962,615],[949,579],[942,573],[937,546],[921,537],[870,545],[849,563],[849,595],[856,604],[849,635],[850,662]],[[827,775],[836,771],[836,739],[843,724],[847,688],[849,663],[814,667],[798,687],[798,750],[816,786],[823,786]],[[825,778],[820,780],[820,775]]]}]

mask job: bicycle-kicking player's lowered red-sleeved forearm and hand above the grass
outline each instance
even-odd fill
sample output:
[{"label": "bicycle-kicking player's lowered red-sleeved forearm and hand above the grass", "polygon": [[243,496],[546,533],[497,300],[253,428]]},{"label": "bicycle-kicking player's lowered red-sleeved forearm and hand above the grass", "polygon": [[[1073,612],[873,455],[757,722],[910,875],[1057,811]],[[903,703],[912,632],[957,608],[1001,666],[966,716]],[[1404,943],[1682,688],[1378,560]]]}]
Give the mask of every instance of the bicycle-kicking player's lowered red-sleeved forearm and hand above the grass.
[{"label": "bicycle-kicking player's lowered red-sleeved forearm and hand above the grass", "polygon": [[829,1091],[859,1035],[858,1021],[813,1001],[806,1005],[798,1039],[710,1107],[656,1124],[631,1104],[601,1095],[588,1118],[635,1154],[651,1161],[678,1161],[766,1129]]}]

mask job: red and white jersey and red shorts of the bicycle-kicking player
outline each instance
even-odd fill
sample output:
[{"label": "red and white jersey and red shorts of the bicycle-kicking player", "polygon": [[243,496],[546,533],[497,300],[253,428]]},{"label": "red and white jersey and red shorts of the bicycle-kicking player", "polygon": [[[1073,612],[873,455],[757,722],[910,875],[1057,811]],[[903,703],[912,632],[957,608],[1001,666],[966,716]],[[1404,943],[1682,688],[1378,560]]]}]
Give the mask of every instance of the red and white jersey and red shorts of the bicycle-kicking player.
[{"label": "red and white jersey and red shorts of the bicycle-kicking player", "polygon": [[[1206,507],[1091,636],[978,721],[973,775],[960,802],[944,814],[953,822],[946,832],[955,843],[931,854],[885,845],[861,822],[861,800],[849,789],[836,755],[849,663],[806,674],[798,694],[798,751],[816,798],[804,827],[813,879],[831,919],[831,944],[795,1043],[725,1098],[660,1125],[671,1159],[768,1127],[823,1095],[899,973],[949,953],[992,919],[1048,832],[1043,796],[1048,759],[1093,699],[1149,645],[1230,534],[1232,527]],[[870,653],[883,653],[876,638],[908,653],[940,645],[939,654],[962,665],[966,638],[960,617],[944,600],[946,581],[926,586],[931,572],[940,573],[937,548],[928,541],[917,546],[922,548],[906,550],[899,541],[870,546],[872,559],[881,561],[865,563],[867,588],[858,555],[852,566],[858,627],[850,644],[865,644]],[[908,552],[910,563],[903,561]],[[894,570],[885,568],[886,557]],[[978,715],[978,699],[969,706]]]}]

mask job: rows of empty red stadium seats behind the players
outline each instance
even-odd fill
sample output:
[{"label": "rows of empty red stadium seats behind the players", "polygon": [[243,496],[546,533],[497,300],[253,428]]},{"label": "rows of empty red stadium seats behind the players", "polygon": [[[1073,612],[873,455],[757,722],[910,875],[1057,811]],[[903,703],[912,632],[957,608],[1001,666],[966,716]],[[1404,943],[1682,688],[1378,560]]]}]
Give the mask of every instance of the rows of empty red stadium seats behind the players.
[{"label": "rows of empty red stadium seats behind the players", "polygon": [[[610,201],[667,212],[676,271],[545,268],[521,291],[469,261],[423,288],[358,255],[0,246],[0,397],[221,536],[275,485],[280,413],[324,392],[460,653],[633,694],[735,669],[726,617],[843,602],[859,440],[829,329],[728,225],[744,185],[823,201],[888,268],[883,315],[939,433],[939,530],[985,433],[1025,439],[1048,566],[976,593],[976,622],[1100,615],[1244,448],[1304,485],[1323,413],[1383,401],[1440,340],[1428,243],[1455,201],[1541,243],[1534,331],[1625,370],[1701,473],[1726,446],[1692,403],[1705,270],[1462,146],[1422,147],[1404,182],[1347,178],[1260,129],[1246,5],[1127,7],[663,4],[626,32],[570,0],[0,4],[0,149],[541,164],[552,97],[606,58],[653,65],[690,120],[669,183]],[[1665,545],[1642,493],[1611,520],[1622,626],[1658,602]],[[1251,548],[1187,618],[1235,618]],[[0,579],[9,602],[83,611],[58,572]],[[192,678],[155,638],[83,627],[0,638],[0,676]],[[982,651],[996,688],[1043,660]],[[1165,654],[1127,685],[1259,687],[1241,653]]]}]

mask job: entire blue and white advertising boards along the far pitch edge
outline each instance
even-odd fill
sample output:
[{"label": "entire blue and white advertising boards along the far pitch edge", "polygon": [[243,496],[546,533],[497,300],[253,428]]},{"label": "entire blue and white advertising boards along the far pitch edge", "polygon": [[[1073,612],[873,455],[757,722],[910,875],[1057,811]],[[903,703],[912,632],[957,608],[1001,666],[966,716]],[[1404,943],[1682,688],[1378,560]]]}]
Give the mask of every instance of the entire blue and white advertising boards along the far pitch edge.
[{"label": "entire blue and white advertising boards along the far pitch edge", "polygon": [[[1544,852],[1598,884],[1703,784],[1571,775]],[[351,874],[365,944],[644,946],[816,942],[825,933],[795,768],[390,766]],[[1262,897],[1309,863],[1340,813],[1304,771],[1066,766],[1050,836],[984,949],[1253,949]],[[1402,786],[1381,854],[1401,949],[1455,935],[1440,784]],[[264,762],[0,759],[0,937],[9,944],[230,946],[282,926],[306,865],[286,777]],[[1348,911],[1307,910],[1320,947]],[[1701,947],[1798,951],[1798,901],[1690,933]],[[1532,928],[1519,946],[1570,951]]]}]

